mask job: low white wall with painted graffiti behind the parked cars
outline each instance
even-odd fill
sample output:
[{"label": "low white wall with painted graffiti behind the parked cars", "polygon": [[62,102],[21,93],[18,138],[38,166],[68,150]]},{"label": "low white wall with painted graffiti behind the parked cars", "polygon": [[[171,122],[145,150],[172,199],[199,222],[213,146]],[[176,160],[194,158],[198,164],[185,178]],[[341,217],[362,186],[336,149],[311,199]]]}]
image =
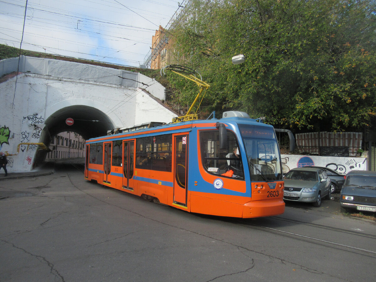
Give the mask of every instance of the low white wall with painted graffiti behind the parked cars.
[{"label": "low white wall with painted graffiti behind the parked cars", "polygon": [[302,155],[281,155],[284,173],[296,167],[317,166],[327,167],[338,173],[347,174],[351,170],[367,170],[366,158],[353,157],[322,157]]}]

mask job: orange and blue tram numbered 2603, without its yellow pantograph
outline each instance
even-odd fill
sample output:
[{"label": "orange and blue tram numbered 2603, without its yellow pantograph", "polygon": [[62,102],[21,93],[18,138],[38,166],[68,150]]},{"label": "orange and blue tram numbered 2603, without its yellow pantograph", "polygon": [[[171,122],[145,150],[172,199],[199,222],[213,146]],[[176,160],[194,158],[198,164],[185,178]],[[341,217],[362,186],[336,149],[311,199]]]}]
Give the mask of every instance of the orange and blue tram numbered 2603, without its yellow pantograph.
[{"label": "orange and blue tram numbered 2603, without its yellow pantograph", "polygon": [[88,139],[85,179],[200,214],[285,209],[275,130],[244,112]]}]

